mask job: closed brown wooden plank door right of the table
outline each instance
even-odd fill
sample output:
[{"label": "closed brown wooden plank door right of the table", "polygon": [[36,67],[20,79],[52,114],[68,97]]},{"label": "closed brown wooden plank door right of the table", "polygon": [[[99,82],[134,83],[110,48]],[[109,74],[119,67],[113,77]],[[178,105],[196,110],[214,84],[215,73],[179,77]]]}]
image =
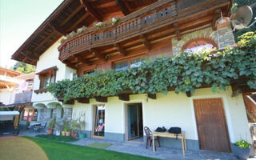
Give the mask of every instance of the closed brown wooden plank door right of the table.
[{"label": "closed brown wooden plank door right of the table", "polygon": [[230,138],[221,98],[194,99],[201,150],[230,152]]}]

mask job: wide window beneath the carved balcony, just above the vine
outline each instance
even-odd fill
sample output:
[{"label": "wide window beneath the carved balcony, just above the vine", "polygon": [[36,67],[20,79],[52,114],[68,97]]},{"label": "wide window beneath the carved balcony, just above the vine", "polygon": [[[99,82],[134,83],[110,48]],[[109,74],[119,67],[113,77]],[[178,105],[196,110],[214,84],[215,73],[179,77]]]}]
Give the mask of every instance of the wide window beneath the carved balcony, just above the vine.
[{"label": "wide window beneath the carved balcony, just above the vine", "polygon": [[128,68],[141,66],[141,64],[142,64],[142,59],[136,58],[129,61],[114,63],[114,70],[115,71],[127,70]]}]

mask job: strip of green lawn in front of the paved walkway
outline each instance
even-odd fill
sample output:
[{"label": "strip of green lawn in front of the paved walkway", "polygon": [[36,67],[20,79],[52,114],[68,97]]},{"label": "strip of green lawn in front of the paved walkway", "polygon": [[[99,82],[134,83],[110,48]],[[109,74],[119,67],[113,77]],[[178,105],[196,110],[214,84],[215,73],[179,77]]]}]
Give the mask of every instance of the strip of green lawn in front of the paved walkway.
[{"label": "strip of green lawn in front of the paved walkway", "polygon": [[122,154],[110,150],[101,150],[96,148],[91,148],[88,146],[77,146],[71,145],[63,142],[53,142],[48,140],[43,140],[40,138],[29,138],[30,140],[36,142],[39,146],[42,147],[50,160],[102,160],[102,159],[130,159],[130,160],[143,160],[143,159],[153,159],[146,158],[142,156],[135,156],[132,154]]}]

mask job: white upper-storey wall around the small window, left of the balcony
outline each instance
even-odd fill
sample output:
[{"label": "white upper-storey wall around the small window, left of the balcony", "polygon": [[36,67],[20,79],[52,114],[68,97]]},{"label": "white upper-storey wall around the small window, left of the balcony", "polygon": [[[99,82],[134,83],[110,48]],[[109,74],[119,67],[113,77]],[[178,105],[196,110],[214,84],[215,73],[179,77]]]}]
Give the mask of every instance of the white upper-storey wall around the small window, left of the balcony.
[{"label": "white upper-storey wall around the small window, left of the balcony", "polygon": [[[76,73],[76,70],[67,67],[64,63],[62,63],[58,59],[58,46],[60,45],[60,40],[55,42],[53,46],[50,46],[48,50],[44,54],[42,54],[38,60],[37,68],[35,73],[38,73],[42,70],[50,68],[52,66],[57,66],[58,70],[56,73],[56,82],[62,79],[70,79],[71,73]],[[40,85],[40,80],[37,74],[34,76],[34,90],[38,90]],[[54,97],[50,93],[42,93],[42,94],[32,94],[32,102],[45,102],[54,100]]]}]

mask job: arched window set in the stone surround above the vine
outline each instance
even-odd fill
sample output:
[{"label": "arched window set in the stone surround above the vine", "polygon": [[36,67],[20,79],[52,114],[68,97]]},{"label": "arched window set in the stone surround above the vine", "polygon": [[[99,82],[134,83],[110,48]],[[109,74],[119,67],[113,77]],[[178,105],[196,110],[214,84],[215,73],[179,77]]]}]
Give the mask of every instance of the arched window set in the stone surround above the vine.
[{"label": "arched window set in the stone surround above the vine", "polygon": [[187,42],[182,50],[190,52],[198,52],[204,48],[218,48],[216,43],[210,38],[196,38]]}]

